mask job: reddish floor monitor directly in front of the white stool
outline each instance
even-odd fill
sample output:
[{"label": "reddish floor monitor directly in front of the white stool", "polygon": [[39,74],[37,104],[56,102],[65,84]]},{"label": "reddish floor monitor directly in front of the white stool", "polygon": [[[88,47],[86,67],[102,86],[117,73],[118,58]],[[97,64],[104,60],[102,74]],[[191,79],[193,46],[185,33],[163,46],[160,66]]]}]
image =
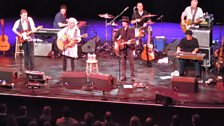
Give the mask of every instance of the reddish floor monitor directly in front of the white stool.
[{"label": "reddish floor monitor directly in front of the white stool", "polygon": [[116,78],[108,74],[90,73],[89,81],[93,82],[94,87],[103,91],[111,91],[116,85]]}]

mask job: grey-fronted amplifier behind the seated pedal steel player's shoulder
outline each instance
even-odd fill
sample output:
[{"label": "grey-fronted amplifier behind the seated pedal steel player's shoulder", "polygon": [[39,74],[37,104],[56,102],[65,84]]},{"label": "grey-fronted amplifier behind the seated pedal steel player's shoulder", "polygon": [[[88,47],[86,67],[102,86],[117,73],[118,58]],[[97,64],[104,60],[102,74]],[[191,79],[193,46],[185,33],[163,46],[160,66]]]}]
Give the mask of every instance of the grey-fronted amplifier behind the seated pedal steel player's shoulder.
[{"label": "grey-fronted amplifier behind the seated pedal steel player's shoulder", "polygon": [[198,39],[198,44],[201,47],[212,46],[212,29],[211,28],[191,28],[193,37]]}]

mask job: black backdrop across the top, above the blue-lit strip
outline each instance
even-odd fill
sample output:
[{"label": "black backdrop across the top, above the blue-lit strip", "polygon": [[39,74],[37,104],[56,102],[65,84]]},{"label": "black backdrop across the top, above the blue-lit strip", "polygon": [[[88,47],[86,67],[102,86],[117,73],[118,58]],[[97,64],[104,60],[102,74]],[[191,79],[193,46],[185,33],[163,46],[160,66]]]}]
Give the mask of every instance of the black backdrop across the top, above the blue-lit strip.
[{"label": "black backdrop across the top, above the blue-lit strip", "polygon": [[[54,18],[61,4],[68,6],[68,16],[77,19],[100,19],[97,15],[109,13],[114,16],[125,7],[124,15],[131,16],[137,0],[1,0],[0,17],[19,17],[19,10],[25,8],[29,15],[36,18]],[[164,15],[164,21],[179,22],[181,12],[190,5],[190,0],[142,0],[145,10],[152,14]],[[214,14],[215,22],[224,20],[223,0],[199,0],[204,12]],[[156,19],[156,18],[154,18]]]}]

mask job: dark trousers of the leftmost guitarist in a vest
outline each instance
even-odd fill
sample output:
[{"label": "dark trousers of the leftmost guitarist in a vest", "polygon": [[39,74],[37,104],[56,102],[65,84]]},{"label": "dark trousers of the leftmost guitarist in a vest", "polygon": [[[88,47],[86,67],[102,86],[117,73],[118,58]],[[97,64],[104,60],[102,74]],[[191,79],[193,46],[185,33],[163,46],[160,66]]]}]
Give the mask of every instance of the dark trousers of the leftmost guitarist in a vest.
[{"label": "dark trousers of the leftmost guitarist in a vest", "polygon": [[34,43],[24,42],[22,44],[24,51],[24,65],[27,70],[33,70],[34,68]]}]

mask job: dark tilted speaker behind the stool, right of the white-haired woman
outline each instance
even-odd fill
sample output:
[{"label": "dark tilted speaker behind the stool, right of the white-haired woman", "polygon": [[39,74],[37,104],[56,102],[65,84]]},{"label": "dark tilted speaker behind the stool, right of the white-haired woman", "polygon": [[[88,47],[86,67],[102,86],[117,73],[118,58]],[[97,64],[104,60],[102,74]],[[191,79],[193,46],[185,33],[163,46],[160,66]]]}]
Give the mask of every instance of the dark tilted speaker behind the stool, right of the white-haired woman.
[{"label": "dark tilted speaker behind the stool, right of the white-haired woman", "polygon": [[95,40],[89,40],[82,46],[82,52],[84,53],[94,53],[96,49]]}]

